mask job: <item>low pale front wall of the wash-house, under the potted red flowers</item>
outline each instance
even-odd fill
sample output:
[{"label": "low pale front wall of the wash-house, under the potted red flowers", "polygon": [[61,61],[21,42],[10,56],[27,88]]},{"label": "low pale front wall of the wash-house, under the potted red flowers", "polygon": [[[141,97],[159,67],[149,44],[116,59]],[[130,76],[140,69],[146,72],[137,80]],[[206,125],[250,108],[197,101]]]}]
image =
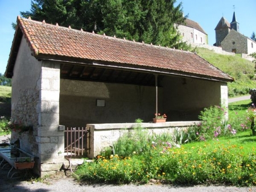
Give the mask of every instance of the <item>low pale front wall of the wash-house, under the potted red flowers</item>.
[{"label": "low pale front wall of the wash-house, under the potted red flowers", "polygon": [[[168,118],[167,118],[168,120]],[[187,128],[199,122],[166,122],[166,123],[141,123],[149,134],[173,133],[174,128]],[[123,133],[133,131],[138,127],[137,123],[113,123],[113,124],[87,124],[90,131],[90,151],[89,158],[94,158],[100,154],[104,147],[113,146]]]}]

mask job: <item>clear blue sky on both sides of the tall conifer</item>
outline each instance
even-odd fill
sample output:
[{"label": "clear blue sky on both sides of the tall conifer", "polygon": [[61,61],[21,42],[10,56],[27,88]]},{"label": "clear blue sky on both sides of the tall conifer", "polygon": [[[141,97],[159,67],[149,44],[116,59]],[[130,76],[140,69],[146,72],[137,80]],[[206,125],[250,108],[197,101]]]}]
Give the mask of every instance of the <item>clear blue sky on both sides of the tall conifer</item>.
[{"label": "clear blue sky on both sides of the tall conifer", "polygon": [[[176,0],[183,2],[184,15],[199,23],[208,34],[209,45],[215,43],[214,28],[222,16],[229,22],[233,17],[235,6],[237,22],[240,23],[241,34],[250,37],[256,33],[256,1],[255,0]],[[0,0],[0,73],[5,73],[9,59],[14,30],[11,23],[16,21],[20,11],[30,11],[31,0]],[[47,20],[46,20],[47,22]]]}]

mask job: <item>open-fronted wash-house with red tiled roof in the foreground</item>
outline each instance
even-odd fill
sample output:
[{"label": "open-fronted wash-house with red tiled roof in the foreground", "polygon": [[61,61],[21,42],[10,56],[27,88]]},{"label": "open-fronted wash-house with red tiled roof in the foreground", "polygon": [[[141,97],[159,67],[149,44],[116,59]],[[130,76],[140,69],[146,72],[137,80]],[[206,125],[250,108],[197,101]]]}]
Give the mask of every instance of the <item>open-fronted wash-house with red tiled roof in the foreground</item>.
[{"label": "open-fronted wash-house with red tiled roof in the foreground", "polygon": [[[34,170],[41,176],[64,161],[63,126],[137,118],[150,126],[156,90],[166,124],[197,120],[204,107],[227,106],[233,81],[192,52],[19,16],[5,76],[12,78],[11,118],[33,126],[19,137],[20,148],[38,157]],[[13,133],[11,142],[17,138]]]}]

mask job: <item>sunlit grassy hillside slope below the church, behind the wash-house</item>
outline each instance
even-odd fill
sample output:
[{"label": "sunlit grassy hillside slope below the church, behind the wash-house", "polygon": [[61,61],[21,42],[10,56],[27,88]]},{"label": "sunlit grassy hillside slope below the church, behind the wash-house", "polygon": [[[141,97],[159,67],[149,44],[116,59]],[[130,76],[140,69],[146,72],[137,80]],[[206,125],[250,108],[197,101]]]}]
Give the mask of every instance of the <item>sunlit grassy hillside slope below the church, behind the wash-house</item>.
[{"label": "sunlit grassy hillside slope below the church, behind the wash-house", "polygon": [[249,94],[249,89],[256,88],[253,62],[242,59],[241,55],[221,55],[205,48],[196,48],[195,51],[197,55],[234,78],[234,82],[228,83],[229,97]]}]

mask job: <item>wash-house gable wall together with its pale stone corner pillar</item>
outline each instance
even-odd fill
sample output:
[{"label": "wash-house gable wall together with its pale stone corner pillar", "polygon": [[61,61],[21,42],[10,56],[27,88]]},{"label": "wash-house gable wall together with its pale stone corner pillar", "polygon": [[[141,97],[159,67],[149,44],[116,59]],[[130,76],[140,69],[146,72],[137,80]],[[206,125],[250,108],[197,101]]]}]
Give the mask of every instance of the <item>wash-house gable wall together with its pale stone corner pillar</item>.
[{"label": "wash-house gable wall together with its pale stone corner pillar", "polygon": [[36,157],[40,176],[60,170],[64,161],[64,132],[59,130],[60,69],[56,62],[38,61],[22,38],[12,80],[11,118],[32,125],[32,132],[12,132],[11,143]]}]

